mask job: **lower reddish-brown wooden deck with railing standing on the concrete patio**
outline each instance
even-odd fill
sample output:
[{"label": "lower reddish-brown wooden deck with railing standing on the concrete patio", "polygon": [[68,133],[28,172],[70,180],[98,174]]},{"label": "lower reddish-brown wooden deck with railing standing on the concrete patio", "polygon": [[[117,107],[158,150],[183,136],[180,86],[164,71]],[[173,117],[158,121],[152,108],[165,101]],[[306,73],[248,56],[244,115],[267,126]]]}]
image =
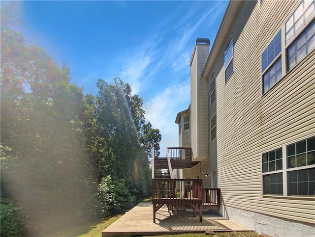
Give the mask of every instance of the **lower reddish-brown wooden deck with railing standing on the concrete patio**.
[{"label": "lower reddish-brown wooden deck with railing standing on the concrete patio", "polygon": [[156,212],[166,205],[171,215],[177,209],[191,208],[193,216],[199,212],[199,222],[202,222],[203,209],[220,208],[220,189],[202,188],[201,179],[152,179],[153,184],[153,222],[156,222]]}]

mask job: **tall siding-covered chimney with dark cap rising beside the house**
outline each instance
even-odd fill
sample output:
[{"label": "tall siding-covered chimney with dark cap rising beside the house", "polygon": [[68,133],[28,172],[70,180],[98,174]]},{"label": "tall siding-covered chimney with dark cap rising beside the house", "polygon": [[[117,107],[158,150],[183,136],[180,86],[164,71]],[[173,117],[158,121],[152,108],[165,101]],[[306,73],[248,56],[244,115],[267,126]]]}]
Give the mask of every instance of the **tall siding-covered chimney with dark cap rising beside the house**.
[{"label": "tall siding-covered chimney with dark cap rising beside the house", "polygon": [[208,156],[208,82],[201,78],[210,40],[198,38],[190,59],[190,139],[196,161]]}]

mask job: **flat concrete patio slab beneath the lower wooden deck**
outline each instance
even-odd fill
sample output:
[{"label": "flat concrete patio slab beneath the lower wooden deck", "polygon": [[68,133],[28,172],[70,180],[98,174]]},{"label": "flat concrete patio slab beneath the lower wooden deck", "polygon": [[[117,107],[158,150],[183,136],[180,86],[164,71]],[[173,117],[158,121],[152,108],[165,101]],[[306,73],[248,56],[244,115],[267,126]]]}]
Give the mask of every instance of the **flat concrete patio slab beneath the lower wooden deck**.
[{"label": "flat concrete patio slab beneath the lower wooden deck", "polygon": [[204,233],[205,231],[253,231],[252,229],[225,218],[202,213],[199,222],[198,212],[193,217],[191,210],[179,210],[177,215],[169,215],[166,205],[157,211],[153,223],[153,204],[139,203],[120,219],[102,231],[102,237],[149,236],[181,233]]}]

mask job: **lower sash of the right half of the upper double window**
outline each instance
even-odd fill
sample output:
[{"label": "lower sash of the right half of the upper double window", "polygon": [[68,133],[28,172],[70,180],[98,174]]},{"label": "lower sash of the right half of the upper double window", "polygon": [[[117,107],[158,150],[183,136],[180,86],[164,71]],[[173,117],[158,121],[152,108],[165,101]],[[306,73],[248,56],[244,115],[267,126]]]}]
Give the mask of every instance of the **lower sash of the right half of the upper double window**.
[{"label": "lower sash of the right half of the upper double window", "polygon": [[315,49],[315,22],[291,44],[287,49],[287,70],[289,71],[308,53]]}]

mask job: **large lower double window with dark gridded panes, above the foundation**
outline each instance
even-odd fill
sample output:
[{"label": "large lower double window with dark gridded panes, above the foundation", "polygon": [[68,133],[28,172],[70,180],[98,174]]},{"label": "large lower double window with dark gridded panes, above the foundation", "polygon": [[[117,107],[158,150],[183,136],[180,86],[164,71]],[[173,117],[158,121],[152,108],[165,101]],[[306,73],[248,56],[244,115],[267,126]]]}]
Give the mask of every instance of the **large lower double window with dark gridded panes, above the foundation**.
[{"label": "large lower double window with dark gridded panes, above the foundation", "polygon": [[315,136],[263,153],[261,159],[263,195],[315,196]]}]

